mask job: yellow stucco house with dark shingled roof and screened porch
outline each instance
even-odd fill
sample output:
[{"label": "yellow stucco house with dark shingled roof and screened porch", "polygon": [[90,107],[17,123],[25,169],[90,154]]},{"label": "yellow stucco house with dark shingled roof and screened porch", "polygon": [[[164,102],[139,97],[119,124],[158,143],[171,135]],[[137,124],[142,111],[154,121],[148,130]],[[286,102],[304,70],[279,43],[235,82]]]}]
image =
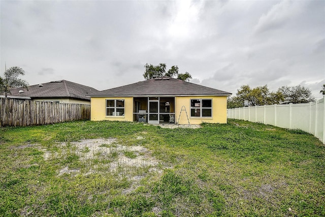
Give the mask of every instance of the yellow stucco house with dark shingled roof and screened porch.
[{"label": "yellow stucco house with dark shingled roof and screened porch", "polygon": [[164,76],[87,96],[91,98],[91,120],[198,125],[226,123],[230,95],[230,92]]}]

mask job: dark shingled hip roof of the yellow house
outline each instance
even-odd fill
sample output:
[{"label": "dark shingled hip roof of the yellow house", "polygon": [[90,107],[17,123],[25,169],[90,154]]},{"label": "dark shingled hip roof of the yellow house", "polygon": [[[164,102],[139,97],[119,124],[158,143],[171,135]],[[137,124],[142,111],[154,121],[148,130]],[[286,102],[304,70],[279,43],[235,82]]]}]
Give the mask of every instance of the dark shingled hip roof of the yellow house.
[{"label": "dark shingled hip roof of the yellow house", "polygon": [[140,81],[125,86],[115,87],[103,91],[97,91],[87,96],[188,96],[210,95],[230,96],[230,92],[186,82],[183,80],[159,77]]}]

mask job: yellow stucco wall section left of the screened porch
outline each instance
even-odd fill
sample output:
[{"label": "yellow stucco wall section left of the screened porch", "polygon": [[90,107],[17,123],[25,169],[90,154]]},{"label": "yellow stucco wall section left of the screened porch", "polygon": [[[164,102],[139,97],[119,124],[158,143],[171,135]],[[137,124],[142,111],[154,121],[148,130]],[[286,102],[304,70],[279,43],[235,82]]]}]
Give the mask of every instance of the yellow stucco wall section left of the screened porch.
[{"label": "yellow stucco wall section left of the screened porch", "polygon": [[[106,116],[106,100],[124,100],[124,116]],[[92,97],[90,120],[133,121],[133,97]]]}]

